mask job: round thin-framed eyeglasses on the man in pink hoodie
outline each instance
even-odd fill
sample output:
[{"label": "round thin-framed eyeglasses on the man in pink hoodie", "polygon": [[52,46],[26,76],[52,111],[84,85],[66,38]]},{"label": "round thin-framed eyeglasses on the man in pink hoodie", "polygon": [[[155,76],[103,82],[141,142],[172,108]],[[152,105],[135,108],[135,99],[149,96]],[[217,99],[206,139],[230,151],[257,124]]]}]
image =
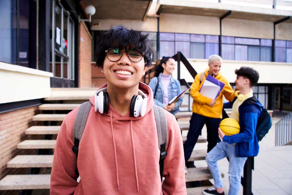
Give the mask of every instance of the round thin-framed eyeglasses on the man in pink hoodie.
[{"label": "round thin-framed eyeglasses on the man in pink hoodie", "polygon": [[128,57],[132,62],[139,62],[142,60],[144,56],[144,52],[140,52],[138,49],[135,49],[135,48],[131,48],[129,50],[127,49],[121,50],[118,47],[112,47],[106,50],[105,53],[107,54],[107,59],[115,62],[121,59],[123,55],[123,51],[128,52]]}]

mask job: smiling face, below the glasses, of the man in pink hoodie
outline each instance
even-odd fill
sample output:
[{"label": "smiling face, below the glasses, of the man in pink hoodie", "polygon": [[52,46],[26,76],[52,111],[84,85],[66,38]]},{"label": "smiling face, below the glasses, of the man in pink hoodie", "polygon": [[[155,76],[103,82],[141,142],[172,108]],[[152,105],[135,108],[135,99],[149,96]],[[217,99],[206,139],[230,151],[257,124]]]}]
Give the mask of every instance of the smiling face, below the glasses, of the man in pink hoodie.
[{"label": "smiling face, below the glasses, of the man in pink hoodie", "polygon": [[145,74],[144,57],[139,62],[129,59],[127,51],[123,51],[121,59],[110,61],[105,55],[101,72],[105,75],[108,85],[114,88],[130,88],[137,86]]}]

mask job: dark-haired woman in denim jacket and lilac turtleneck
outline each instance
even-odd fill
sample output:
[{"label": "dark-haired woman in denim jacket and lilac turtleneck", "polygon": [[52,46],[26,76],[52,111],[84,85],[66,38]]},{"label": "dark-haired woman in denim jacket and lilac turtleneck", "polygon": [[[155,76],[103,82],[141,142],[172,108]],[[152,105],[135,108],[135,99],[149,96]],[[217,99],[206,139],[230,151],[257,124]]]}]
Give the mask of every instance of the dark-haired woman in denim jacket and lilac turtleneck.
[{"label": "dark-haired woman in denim jacket and lilac turtleneck", "polygon": [[[154,94],[154,104],[161,106],[173,115],[179,111],[179,107],[183,102],[183,98],[180,97],[178,101],[168,106],[168,102],[173,99],[174,96],[181,93],[180,82],[172,78],[174,69],[175,60],[171,57],[163,57],[159,65],[155,68],[155,77],[153,77],[149,83]],[[155,93],[156,86],[157,90]]]}]

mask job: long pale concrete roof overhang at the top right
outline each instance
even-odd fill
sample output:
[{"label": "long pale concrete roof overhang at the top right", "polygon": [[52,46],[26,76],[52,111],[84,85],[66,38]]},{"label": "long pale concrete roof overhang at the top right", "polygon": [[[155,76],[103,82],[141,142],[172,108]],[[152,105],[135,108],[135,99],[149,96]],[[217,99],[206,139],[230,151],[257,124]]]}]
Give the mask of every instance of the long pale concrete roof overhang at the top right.
[{"label": "long pale concrete roof overhang at the top right", "polygon": [[[157,4],[157,14],[173,13],[184,15],[201,15],[222,17],[229,11],[228,18],[276,22],[292,15],[292,11],[269,9],[251,6],[239,6],[222,3],[206,3],[189,0],[160,0]],[[286,22],[291,22],[287,20]]]}]

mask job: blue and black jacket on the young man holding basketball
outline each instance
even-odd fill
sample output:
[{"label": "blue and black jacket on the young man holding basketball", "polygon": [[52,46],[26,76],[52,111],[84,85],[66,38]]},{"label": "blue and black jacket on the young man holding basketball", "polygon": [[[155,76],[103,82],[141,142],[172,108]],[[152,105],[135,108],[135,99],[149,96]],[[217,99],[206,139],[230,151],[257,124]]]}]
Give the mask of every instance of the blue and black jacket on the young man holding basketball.
[{"label": "blue and black jacket on the young man holding basketball", "polygon": [[[225,103],[224,108],[232,108],[234,101]],[[262,109],[263,105],[258,101],[255,95],[246,99],[239,106],[239,134],[223,137],[223,141],[228,142],[228,144],[236,143],[236,156],[249,157],[258,155],[259,145],[256,136],[256,126]]]}]

